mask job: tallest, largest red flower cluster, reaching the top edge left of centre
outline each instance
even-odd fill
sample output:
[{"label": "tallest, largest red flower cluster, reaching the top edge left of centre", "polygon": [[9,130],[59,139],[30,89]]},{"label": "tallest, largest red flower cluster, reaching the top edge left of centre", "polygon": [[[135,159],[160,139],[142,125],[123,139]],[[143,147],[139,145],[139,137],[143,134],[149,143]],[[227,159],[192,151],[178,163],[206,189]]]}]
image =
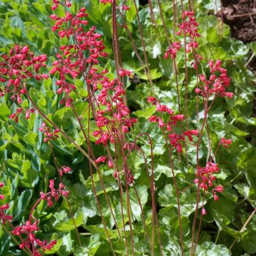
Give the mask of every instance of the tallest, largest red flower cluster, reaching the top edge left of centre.
[{"label": "tallest, largest red flower cluster, reaching the top edge left of centre", "polygon": [[[53,10],[60,4],[68,7],[65,2],[55,1],[57,6]],[[69,79],[75,79],[82,75],[87,85],[92,85],[96,89],[99,74],[97,73],[97,68],[93,67],[93,65],[99,63],[100,57],[107,57],[107,53],[104,52],[105,46],[100,40],[101,35],[95,33],[96,27],[92,26],[85,31],[84,28],[88,23],[85,20],[86,17],[87,13],[84,7],[75,15],[66,11],[64,17],[59,17],[55,14],[50,16],[55,21],[52,30],[58,31],[58,35],[61,38],[72,37],[74,41],[73,44],[70,43],[68,46],[60,46],[60,53],[56,55],[58,60],[55,60],[53,68],[50,70],[50,75],[58,73],[60,76],[60,79],[56,82],[60,87],[57,93],[64,92],[63,100],[60,103],[65,103],[66,107],[69,107],[73,101],[70,97],[70,92],[76,90],[75,85],[69,82]]]}]

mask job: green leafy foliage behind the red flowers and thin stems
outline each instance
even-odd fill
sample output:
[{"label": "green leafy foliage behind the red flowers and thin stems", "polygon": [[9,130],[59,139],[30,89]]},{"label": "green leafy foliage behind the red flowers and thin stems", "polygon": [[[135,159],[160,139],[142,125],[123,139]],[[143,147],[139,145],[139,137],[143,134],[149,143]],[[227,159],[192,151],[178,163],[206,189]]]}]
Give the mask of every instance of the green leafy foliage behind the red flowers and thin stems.
[{"label": "green leafy foliage behind the red flowers and thin stems", "polygon": [[[136,11],[132,0],[127,1],[130,10],[127,12],[127,25],[132,31],[139,53],[142,53],[142,43],[138,33]],[[203,217],[203,230],[201,233],[196,255],[231,255],[228,247],[233,240],[238,242],[233,247],[232,255],[252,255],[256,253],[256,216],[252,218],[247,228],[240,232],[250,213],[256,207],[256,150],[255,150],[255,126],[256,119],[252,117],[252,100],[255,92],[253,75],[245,63],[249,57],[250,46],[230,37],[230,29],[224,25],[223,36],[218,34],[217,18],[208,13],[214,11],[215,4],[210,0],[194,1],[199,33],[198,40],[200,54],[203,56],[203,65],[200,72],[206,72],[209,59],[220,59],[224,68],[228,69],[228,75],[232,78],[230,91],[235,92],[231,100],[218,99],[209,113],[209,132],[212,139],[212,149],[218,144],[220,137],[233,140],[230,149],[220,149],[216,161],[220,165],[218,179],[225,187],[220,200],[215,202],[210,195],[206,196],[206,211],[208,215]],[[156,3],[153,1],[156,6]],[[52,63],[55,53],[65,39],[59,39],[58,35],[50,30],[53,22],[48,18],[52,11],[51,3],[48,1],[6,1],[0,3],[0,53],[9,51],[14,44],[28,45],[36,54],[45,53],[48,55],[48,63]],[[99,4],[96,0],[85,2],[74,1],[73,11],[81,6],[87,8],[90,26],[95,25],[97,32],[104,38],[107,53],[110,54],[107,63],[101,63],[108,68],[110,78],[114,78],[114,58],[112,55],[112,12],[110,5]],[[181,6],[178,6],[178,14],[181,14]],[[169,34],[172,35],[173,14],[171,1],[162,1],[166,26]],[[167,47],[164,30],[161,25],[159,11],[155,9],[156,23],[159,34],[151,23],[149,6],[141,6],[139,17],[142,22],[146,52],[149,56],[151,77],[154,81],[156,96],[172,110],[178,110],[176,83],[171,60],[164,60],[164,52]],[[122,23],[121,19],[118,19]],[[126,81],[127,99],[133,114],[139,117],[138,124],[132,129],[134,137],[140,132],[149,132],[154,144],[154,175],[156,179],[156,203],[159,214],[161,239],[166,255],[177,255],[178,251],[178,216],[176,196],[169,167],[168,152],[164,145],[164,139],[160,130],[150,124],[147,120],[154,114],[154,107],[149,107],[146,97],[151,95],[151,86],[144,75],[141,65],[132,50],[124,28],[119,28],[119,44],[122,53],[124,68],[132,70],[140,78],[140,83],[134,85]],[[66,42],[67,43],[67,42]],[[188,61],[189,65],[190,61]],[[177,64],[179,69],[179,86],[181,95],[185,90],[184,81],[184,56],[182,51],[178,54]],[[192,69],[188,70],[189,90],[189,122],[191,129],[196,129],[196,74]],[[75,80],[78,87],[78,94],[86,97],[87,90],[82,80]],[[73,117],[71,110],[60,106],[60,98],[55,94],[55,78],[43,82],[32,82],[30,93],[38,106],[48,114],[56,124],[62,127],[70,137],[75,139],[79,145],[85,145],[80,127]],[[75,109],[78,113],[86,108],[87,103],[82,103],[79,95],[73,95]],[[28,106],[27,101],[23,102]],[[181,105],[184,105],[181,97]],[[50,154],[50,147],[43,143],[42,134],[38,132],[41,126],[41,117],[32,114],[31,119],[21,117],[18,123],[9,119],[15,109],[14,104],[8,97],[0,99],[0,181],[4,181],[5,187],[2,193],[6,195],[5,202],[10,202],[9,214],[14,216],[14,223],[23,223],[29,214],[33,203],[39,198],[40,191],[48,190],[48,181],[57,175]],[[203,110],[199,105],[199,110]],[[84,116],[85,127],[86,114]],[[203,121],[203,112],[199,114],[199,124]],[[94,124],[95,126],[95,124]],[[93,123],[92,123],[93,129]],[[91,138],[94,139],[93,137]],[[146,139],[140,139],[139,144],[149,158],[150,151]],[[201,161],[208,157],[208,141],[203,139],[201,147]],[[101,146],[94,146],[98,156],[105,154]],[[41,231],[38,238],[47,240],[57,239],[57,245],[51,252],[56,255],[112,255],[110,246],[100,220],[100,213],[97,210],[95,196],[92,193],[92,181],[88,161],[75,147],[65,138],[60,138],[54,143],[54,150],[58,162],[61,165],[68,165],[73,169],[73,174],[65,176],[65,183],[70,190],[70,203],[75,213],[75,223],[80,227],[82,247],[79,247],[75,237],[75,230],[68,206],[65,201],[59,201],[53,208],[47,208],[46,203],[41,203],[36,210],[36,218],[40,219]],[[188,150],[188,166],[181,164],[178,158],[174,160],[176,178],[180,190],[193,184],[196,164],[195,151]],[[135,174],[135,183],[139,196],[142,200],[146,224],[151,226],[151,196],[149,182],[146,179],[146,171],[143,165],[142,156],[133,155],[129,161],[130,169]],[[112,208],[117,216],[117,223],[122,224],[120,213],[120,198],[118,185],[112,177],[112,170],[102,166],[107,193],[110,196]],[[113,230],[113,220],[110,210],[107,208],[105,197],[100,187],[100,181],[95,174],[97,182],[97,195],[100,198],[102,212],[110,229],[110,236],[114,242],[114,250],[117,255],[125,255],[124,242],[117,238],[116,230]],[[136,196],[132,196],[132,212],[136,222],[134,224],[134,245],[136,255],[150,255],[141,219],[141,210],[137,203]],[[186,193],[181,195],[181,213],[183,233],[186,246],[191,240],[191,225],[193,223],[193,211],[196,205],[196,187],[191,186]],[[156,245],[157,246],[157,245]],[[159,252],[157,255],[159,255]],[[245,253],[245,255],[246,255]],[[0,230],[0,255],[24,255],[18,246],[4,232]]]}]

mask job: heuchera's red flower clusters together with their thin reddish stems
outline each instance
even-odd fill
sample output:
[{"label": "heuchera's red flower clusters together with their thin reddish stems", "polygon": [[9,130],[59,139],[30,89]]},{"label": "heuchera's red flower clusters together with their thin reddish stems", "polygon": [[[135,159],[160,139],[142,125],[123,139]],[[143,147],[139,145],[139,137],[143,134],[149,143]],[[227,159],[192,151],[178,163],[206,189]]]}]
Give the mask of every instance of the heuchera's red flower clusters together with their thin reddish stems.
[{"label": "heuchera's red flower clusters together with their thin reddish stems", "polygon": [[[113,1],[113,3],[112,1],[101,2],[103,4],[112,4],[113,9],[116,8],[115,1]],[[68,200],[69,191],[62,180],[63,175],[70,173],[72,169],[69,166],[59,166],[54,155],[53,141],[59,139],[59,137],[65,137],[80,150],[81,154],[89,159],[90,175],[92,179],[93,191],[95,193],[95,201],[102,218],[102,225],[104,226],[110,247],[113,249],[113,243],[111,240],[110,230],[106,225],[105,216],[102,213],[102,206],[100,206],[100,201],[97,196],[93,176],[95,172],[100,179],[100,184],[105,195],[106,203],[110,209],[119,239],[124,240],[125,242],[125,250],[127,255],[135,255],[133,238],[134,220],[131,215],[131,206],[129,203],[129,191],[131,190],[135,191],[137,201],[142,210],[143,228],[145,231],[146,240],[149,243],[151,255],[154,255],[155,250],[160,250],[161,255],[164,255],[161,245],[161,235],[159,232],[158,213],[155,205],[156,188],[154,186],[154,159],[151,134],[147,134],[146,132],[140,133],[136,138],[132,138],[132,135],[130,134],[132,127],[138,122],[138,120],[132,116],[132,113],[127,106],[124,78],[131,77],[132,72],[122,68],[122,63],[120,62],[118,55],[118,43],[115,40],[113,46],[117,75],[114,79],[108,78],[108,70],[101,67],[100,61],[101,58],[107,58],[105,46],[101,40],[101,35],[96,32],[96,27],[88,27],[86,9],[82,8],[76,14],[72,14],[70,12],[70,2],[54,0],[52,10],[55,11],[60,6],[65,9],[65,16],[58,16],[56,14],[50,15],[50,18],[55,21],[52,30],[58,33],[60,38],[67,38],[69,44],[60,46],[58,53],[55,55],[55,61],[53,62],[52,68],[50,68],[49,74],[47,74],[46,71],[43,71],[46,70],[47,56],[35,55],[28,46],[14,46],[14,48],[12,48],[8,54],[1,56],[0,62],[0,95],[1,97],[9,95],[11,100],[15,102],[17,106],[14,113],[9,116],[10,119],[14,119],[15,122],[18,122],[21,114],[25,114],[26,119],[31,117],[31,113],[38,112],[38,114],[41,114],[41,119],[43,122],[39,128],[39,131],[43,133],[43,142],[50,146],[55,168],[58,170],[59,176],[56,177],[55,180],[50,180],[49,192],[40,193],[40,197],[34,204],[33,208],[31,208],[31,213],[25,224],[15,227],[11,223],[12,217],[7,213],[7,210],[9,209],[8,202],[4,202],[4,204],[0,206],[1,221],[3,225],[6,225],[6,228],[11,229],[11,233],[15,235],[20,242],[20,248],[26,251],[28,255],[42,255],[43,251],[51,250],[56,244],[56,240],[47,242],[45,240],[41,241],[36,238],[36,233],[38,230],[40,230],[40,221],[33,217],[33,213],[41,201],[46,201],[47,206],[50,208],[53,206],[53,202],[58,201],[58,198],[62,196],[63,200],[67,201],[68,203],[70,217],[73,219],[73,224],[75,225],[73,212]],[[129,11],[129,7],[122,5],[122,8],[119,8],[118,11],[122,15],[122,12]],[[228,148],[228,145],[231,144],[230,139],[226,139],[224,137],[220,138],[220,142],[218,143],[217,149],[215,149],[214,155],[208,159],[205,166],[201,166],[199,159],[199,148],[203,137],[203,131],[208,119],[208,112],[213,107],[216,98],[232,98],[233,93],[228,92],[230,78],[227,75],[227,70],[221,67],[220,60],[208,60],[208,66],[210,68],[210,77],[208,79],[206,78],[206,75],[198,73],[198,63],[203,61],[201,55],[199,55],[200,48],[196,41],[196,39],[200,37],[200,34],[198,33],[199,24],[196,22],[193,11],[183,11],[181,18],[182,22],[178,24],[178,31],[176,31],[176,41],[169,43],[163,58],[170,58],[174,60],[174,66],[176,67],[175,60],[182,47],[185,56],[188,54],[192,56],[193,62],[191,65],[196,70],[198,78],[200,78],[200,80],[198,80],[198,85],[194,95],[195,97],[198,97],[198,100],[200,97],[201,101],[203,102],[203,124],[201,127],[198,125],[198,127],[195,129],[195,127],[192,127],[192,124],[188,123],[187,98],[185,102],[185,113],[181,113],[180,100],[178,100],[179,109],[171,110],[169,107],[162,104],[161,101],[154,95],[154,90],[152,90],[152,95],[148,95],[147,102],[156,107],[156,113],[149,117],[149,122],[159,126],[159,129],[164,137],[163,144],[165,144],[169,151],[169,161],[178,205],[178,220],[180,230],[179,242],[181,255],[184,255],[185,253],[183,249],[181,204],[179,200],[179,188],[176,181],[173,161],[174,157],[179,157],[181,159],[181,154],[186,156],[188,146],[196,147],[195,158],[197,164],[196,166],[193,166],[195,174],[193,186],[196,186],[197,188],[197,198],[191,233],[191,247],[188,249],[190,250],[191,255],[193,255],[196,250],[196,245],[198,244],[202,215],[207,214],[204,208],[206,194],[212,193],[214,200],[218,201],[218,194],[222,193],[225,189],[220,183],[218,183],[215,177],[215,174],[218,173],[220,169],[218,164],[215,163],[213,159],[215,159],[215,154],[217,153],[219,146]],[[115,31],[116,28],[114,27],[113,33],[115,33]],[[143,60],[141,61],[143,62]],[[146,73],[150,78],[148,68],[149,65],[147,63],[146,56],[145,63],[146,65],[144,66],[147,67]],[[186,72],[186,76],[187,75],[188,74]],[[82,149],[82,147],[79,146],[63,129],[58,127],[32,100],[29,92],[30,81],[47,80],[49,76],[55,76],[57,79],[56,85],[58,86],[58,90],[56,93],[61,99],[60,105],[70,108],[73,112],[73,116],[75,119],[77,119],[80,130],[82,131],[82,135],[85,138],[85,149]],[[87,109],[85,110],[88,113],[87,128],[84,127],[82,117],[80,117],[75,111],[73,104],[74,100],[71,92],[77,93],[77,88],[74,85],[74,80],[76,78],[83,78],[85,86],[87,87],[87,97],[84,99],[87,102]],[[151,84],[153,85],[152,82]],[[22,107],[22,103],[25,99],[28,99],[31,107]],[[90,114],[92,116],[90,116]],[[93,129],[93,131],[92,128],[90,128],[90,122],[92,122],[92,119],[95,120],[97,125],[97,128]],[[186,121],[186,124],[183,124],[184,121]],[[90,142],[92,137],[95,137],[95,144],[102,145],[103,148],[105,148],[106,155],[98,157],[95,156],[95,152],[92,150]],[[151,146],[150,164],[147,162],[141,146],[137,144],[139,137],[146,137],[149,145]],[[129,156],[133,151],[136,151],[138,154],[143,156],[144,164],[146,166],[146,175],[149,179],[152,202],[151,232],[149,232],[149,229],[146,226],[146,217],[144,216],[142,203],[138,196],[139,194],[137,193],[136,179],[134,178],[132,169],[129,169],[129,165],[127,164],[127,161],[129,161]],[[106,192],[104,177],[100,171],[100,164],[107,164],[107,166],[113,170],[113,179],[115,179],[118,183],[122,206],[122,225],[117,223],[117,218],[114,210],[112,209],[110,198]],[[55,183],[58,183],[57,188],[54,186]],[[3,186],[4,183],[0,183],[0,188],[3,188]],[[4,195],[0,195],[0,200],[4,200]],[[124,201],[126,201],[125,205],[123,205]],[[201,208],[201,213],[199,213],[198,230],[196,230],[199,208]],[[127,221],[129,223],[129,228],[127,228],[126,225]],[[156,239],[154,237],[155,228],[158,240],[157,245],[159,246],[158,249],[156,249]],[[76,225],[75,230],[78,241],[80,242],[80,234]],[[127,235],[128,233],[129,235]],[[113,254],[116,255],[114,250]]]}]

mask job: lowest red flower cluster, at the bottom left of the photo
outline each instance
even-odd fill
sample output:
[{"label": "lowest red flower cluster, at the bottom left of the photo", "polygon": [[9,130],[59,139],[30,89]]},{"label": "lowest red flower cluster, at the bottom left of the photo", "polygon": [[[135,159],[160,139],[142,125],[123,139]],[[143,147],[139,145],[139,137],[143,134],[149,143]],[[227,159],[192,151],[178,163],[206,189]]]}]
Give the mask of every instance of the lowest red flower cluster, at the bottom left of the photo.
[{"label": "lowest red flower cluster, at the bottom left of the photo", "polygon": [[[39,249],[42,249],[43,251],[51,250],[56,244],[56,240],[53,240],[51,242],[47,242],[46,240],[41,241],[40,239],[36,238],[35,235],[36,231],[38,230],[38,220],[35,219],[33,224],[31,224],[31,222],[28,220],[24,225],[14,228],[11,233],[18,236],[20,236],[21,234],[26,235],[26,240],[23,240],[19,247],[21,249],[26,247],[33,252],[33,255],[41,256]],[[38,246],[38,248],[35,248],[36,245]]]}]

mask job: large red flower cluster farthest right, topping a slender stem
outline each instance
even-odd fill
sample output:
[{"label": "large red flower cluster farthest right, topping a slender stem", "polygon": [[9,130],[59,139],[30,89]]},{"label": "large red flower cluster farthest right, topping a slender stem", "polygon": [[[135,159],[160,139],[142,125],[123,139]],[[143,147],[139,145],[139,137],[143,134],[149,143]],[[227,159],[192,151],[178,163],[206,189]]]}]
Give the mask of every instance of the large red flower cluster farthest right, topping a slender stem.
[{"label": "large red flower cluster farthest right, topping a slender stem", "polygon": [[[206,79],[205,75],[200,75],[200,80],[203,82],[203,88],[196,88],[195,92],[201,94],[203,97],[209,97],[210,95],[220,96],[220,97],[233,97],[233,92],[226,92],[227,87],[230,85],[230,78],[227,75],[227,70],[221,68],[221,61],[209,60],[210,67],[210,78]],[[216,75],[216,72],[220,75]]]}]

